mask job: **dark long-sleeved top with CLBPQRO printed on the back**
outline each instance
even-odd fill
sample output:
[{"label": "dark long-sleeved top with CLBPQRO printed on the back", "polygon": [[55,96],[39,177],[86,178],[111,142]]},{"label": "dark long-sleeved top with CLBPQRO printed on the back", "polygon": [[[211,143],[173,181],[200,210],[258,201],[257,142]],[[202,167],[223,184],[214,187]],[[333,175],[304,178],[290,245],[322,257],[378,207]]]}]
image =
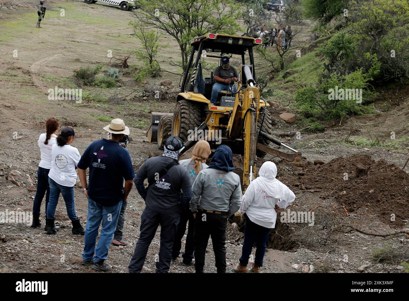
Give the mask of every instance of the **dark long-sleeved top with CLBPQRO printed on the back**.
[{"label": "dark long-sleeved top with CLBPQRO printed on the back", "polygon": [[[145,200],[147,208],[162,212],[175,213],[181,208],[181,190],[190,200],[192,196],[189,172],[182,165],[172,166],[166,174],[158,178],[164,167],[174,159],[166,156],[149,158],[135,174],[135,186]],[[156,177],[155,177],[156,174]],[[147,189],[144,180],[153,184]]]}]

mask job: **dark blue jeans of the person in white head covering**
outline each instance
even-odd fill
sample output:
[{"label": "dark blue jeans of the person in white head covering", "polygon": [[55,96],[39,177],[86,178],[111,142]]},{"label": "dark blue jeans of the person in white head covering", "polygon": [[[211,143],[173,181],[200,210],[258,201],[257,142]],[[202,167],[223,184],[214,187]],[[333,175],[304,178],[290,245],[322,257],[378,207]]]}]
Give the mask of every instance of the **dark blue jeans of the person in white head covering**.
[{"label": "dark blue jeans of the person in white head covering", "polygon": [[254,264],[262,267],[270,229],[255,224],[247,217],[247,215],[245,215],[245,219],[246,225],[244,229],[244,242],[241,251],[240,264],[247,265],[249,263],[253,244],[256,242],[256,258],[254,259]]}]

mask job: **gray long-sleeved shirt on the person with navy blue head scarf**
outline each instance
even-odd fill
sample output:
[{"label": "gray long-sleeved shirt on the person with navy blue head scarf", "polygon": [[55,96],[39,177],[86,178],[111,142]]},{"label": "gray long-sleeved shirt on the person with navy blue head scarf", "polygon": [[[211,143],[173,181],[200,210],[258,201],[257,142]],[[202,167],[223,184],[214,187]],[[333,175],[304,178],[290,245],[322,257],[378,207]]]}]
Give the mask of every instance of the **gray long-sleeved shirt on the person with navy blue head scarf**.
[{"label": "gray long-sleeved shirt on the person with navy blue head scarf", "polygon": [[233,215],[241,205],[240,177],[214,168],[201,170],[192,187],[190,209],[218,210]]}]

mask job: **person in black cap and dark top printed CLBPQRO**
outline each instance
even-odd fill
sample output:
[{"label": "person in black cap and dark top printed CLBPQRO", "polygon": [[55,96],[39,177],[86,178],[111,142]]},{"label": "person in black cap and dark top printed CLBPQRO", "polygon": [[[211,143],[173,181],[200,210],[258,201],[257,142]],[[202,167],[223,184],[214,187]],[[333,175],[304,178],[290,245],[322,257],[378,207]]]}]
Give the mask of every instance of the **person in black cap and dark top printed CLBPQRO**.
[{"label": "person in black cap and dark top printed CLBPQRO", "polygon": [[[189,172],[178,163],[182,140],[178,136],[166,139],[162,156],[145,161],[135,174],[135,187],[145,201],[141,216],[141,228],[135,252],[130,260],[130,273],[140,273],[148,253],[149,245],[160,225],[160,251],[156,260],[156,272],[167,273],[171,266],[171,255],[175,233],[182,208],[181,191],[187,202],[192,196]],[[148,187],[144,186],[148,179]]]}]

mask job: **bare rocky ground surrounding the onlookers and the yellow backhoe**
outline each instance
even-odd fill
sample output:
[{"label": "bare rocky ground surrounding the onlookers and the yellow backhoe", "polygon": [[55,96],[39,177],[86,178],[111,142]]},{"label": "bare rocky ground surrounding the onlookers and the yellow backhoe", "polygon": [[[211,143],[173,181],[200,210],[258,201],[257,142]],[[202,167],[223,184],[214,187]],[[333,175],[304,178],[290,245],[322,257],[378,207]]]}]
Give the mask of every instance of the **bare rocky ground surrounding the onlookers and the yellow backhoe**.
[{"label": "bare rocky ground surrounding the onlookers and the yellow backhoe", "polygon": [[[48,117],[56,116],[62,126],[74,127],[79,134],[74,146],[80,153],[93,140],[106,136],[102,127],[108,124],[107,120],[123,118],[134,138],[128,151],[137,169],[149,156],[159,152],[155,143],[146,142],[144,129],[149,123],[150,112],[171,112],[174,107],[172,97],[167,96],[177,91],[178,77],[173,75],[150,80],[144,86],[138,86],[131,77],[124,76],[120,81],[121,95],[133,90],[137,92],[120,100],[86,101],[83,104],[48,100],[47,90],[61,85],[72,75],[74,68],[85,63],[108,64],[106,50],[114,48],[112,44],[117,44],[115,49],[135,47],[135,40],[128,35],[132,33],[128,26],[130,16],[124,15],[123,11],[103,5],[91,8],[82,1],[49,2],[54,8],[47,10],[49,20],[44,22],[43,29],[34,27],[36,10],[33,7],[0,12],[4,32],[0,49],[7,54],[0,62],[0,212],[4,213],[32,210],[39,162],[36,139],[44,132]],[[25,1],[23,4],[35,5],[35,2]],[[67,19],[58,17],[60,7],[65,8]],[[108,17],[114,19],[111,27],[95,30],[96,25]],[[113,34],[112,28],[119,35]],[[13,57],[16,49],[18,57]],[[177,56],[178,50],[169,47],[162,59],[166,61]],[[177,71],[171,68],[169,70]],[[160,84],[164,79],[172,83]],[[159,89],[164,97],[158,100],[151,91]],[[107,91],[105,93],[110,95],[115,92]],[[279,178],[297,196],[290,210],[314,211],[315,224],[277,221],[268,242],[263,272],[404,271],[401,263],[409,262],[408,235],[380,237],[348,232],[349,228],[345,228],[351,225],[365,233],[383,235],[409,231],[409,166],[398,171],[408,158],[409,99],[407,93],[398,96],[399,99],[391,100],[393,105],[387,112],[350,118],[321,133],[308,133],[297,123],[289,124],[279,118],[280,113],[291,111],[290,108],[270,109],[274,136],[301,151],[303,161],[310,163],[304,168],[294,167],[267,155],[259,159],[258,167],[265,160],[273,160],[278,166]],[[389,138],[391,132],[396,135],[395,140]],[[367,145],[375,138],[383,143]],[[338,157],[341,158],[331,161]],[[332,163],[327,165],[329,162]],[[366,170],[362,177],[357,177],[358,165],[363,165]],[[372,177],[372,172],[376,172],[376,177]],[[345,173],[350,177],[348,181],[344,180]],[[79,183],[75,186],[75,201],[77,215],[85,226],[87,200]],[[124,231],[124,238],[130,241],[130,245],[110,247],[108,261],[113,266],[112,272],[128,271],[143,210],[144,202],[134,189],[128,199]],[[44,206],[44,223],[43,211]],[[395,221],[388,219],[391,213],[396,214]],[[62,198],[56,220],[61,226],[57,235],[46,235],[42,229],[32,229],[24,223],[0,223],[0,271],[95,272],[80,265],[83,237],[71,234]],[[227,229],[228,272],[232,272],[240,258],[243,243],[240,226],[229,224]],[[158,251],[157,234],[149,249],[144,272],[155,271]],[[215,272],[211,241],[207,251],[205,271]],[[377,260],[377,256],[383,260]],[[180,261],[178,258],[172,263],[170,272],[194,271],[192,267],[180,265]]]}]

